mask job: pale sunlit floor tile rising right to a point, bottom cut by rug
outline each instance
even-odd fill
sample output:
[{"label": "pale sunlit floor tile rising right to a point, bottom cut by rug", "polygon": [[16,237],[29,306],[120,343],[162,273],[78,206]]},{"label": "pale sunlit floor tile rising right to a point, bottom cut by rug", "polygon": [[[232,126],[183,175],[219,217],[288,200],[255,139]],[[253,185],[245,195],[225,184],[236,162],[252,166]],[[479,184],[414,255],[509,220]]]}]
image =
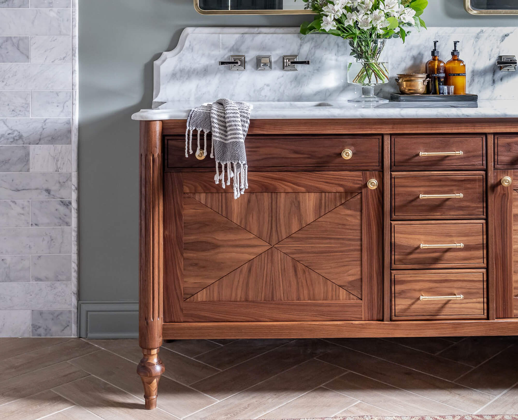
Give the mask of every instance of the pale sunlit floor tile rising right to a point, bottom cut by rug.
[{"label": "pale sunlit floor tile rising right to a point, bottom cut by rug", "polygon": [[331,417],[358,402],[327,388],[316,388],[258,418]]}]

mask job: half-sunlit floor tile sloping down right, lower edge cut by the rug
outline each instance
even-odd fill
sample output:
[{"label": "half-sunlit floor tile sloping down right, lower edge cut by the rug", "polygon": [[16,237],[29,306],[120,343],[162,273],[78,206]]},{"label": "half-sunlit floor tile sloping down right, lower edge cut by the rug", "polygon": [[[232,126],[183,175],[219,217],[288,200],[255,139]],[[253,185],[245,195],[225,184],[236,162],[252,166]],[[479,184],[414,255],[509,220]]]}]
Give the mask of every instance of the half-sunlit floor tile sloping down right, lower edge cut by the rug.
[{"label": "half-sunlit floor tile sloping down right, lower edge cut by the rug", "polygon": [[408,393],[405,390],[383,384],[356,373],[346,373],[325,385],[348,397],[383,407],[399,415],[448,415],[466,414],[440,402]]}]

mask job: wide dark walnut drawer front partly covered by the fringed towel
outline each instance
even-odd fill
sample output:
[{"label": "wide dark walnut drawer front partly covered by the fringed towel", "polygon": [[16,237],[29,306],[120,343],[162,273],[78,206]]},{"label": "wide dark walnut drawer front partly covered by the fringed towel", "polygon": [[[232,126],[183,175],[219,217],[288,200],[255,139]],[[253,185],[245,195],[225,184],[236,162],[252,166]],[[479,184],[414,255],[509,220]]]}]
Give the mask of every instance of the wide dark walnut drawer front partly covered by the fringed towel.
[{"label": "wide dark walnut drawer front partly covered by the fringed towel", "polygon": [[[214,159],[198,160],[185,157],[185,138],[168,136],[166,142],[166,170],[181,168],[213,168]],[[200,141],[204,147],[204,139]],[[207,147],[209,147],[208,141]],[[245,146],[249,167],[335,168],[344,171],[381,169],[381,136],[346,135],[249,135]],[[196,133],[193,150],[197,147]],[[342,152],[348,159],[342,157]]]}]

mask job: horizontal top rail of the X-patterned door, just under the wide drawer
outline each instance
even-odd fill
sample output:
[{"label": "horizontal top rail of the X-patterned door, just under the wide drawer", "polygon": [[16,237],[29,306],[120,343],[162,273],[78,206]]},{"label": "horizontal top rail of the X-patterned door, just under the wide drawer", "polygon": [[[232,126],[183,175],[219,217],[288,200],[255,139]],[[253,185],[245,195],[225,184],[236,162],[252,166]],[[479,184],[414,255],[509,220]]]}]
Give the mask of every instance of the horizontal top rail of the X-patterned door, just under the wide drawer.
[{"label": "horizontal top rail of the X-patterned door, just under the wide drawer", "polygon": [[[252,192],[361,192],[361,172],[252,172],[247,193]],[[183,174],[183,192],[228,192],[214,183],[214,173]]]}]

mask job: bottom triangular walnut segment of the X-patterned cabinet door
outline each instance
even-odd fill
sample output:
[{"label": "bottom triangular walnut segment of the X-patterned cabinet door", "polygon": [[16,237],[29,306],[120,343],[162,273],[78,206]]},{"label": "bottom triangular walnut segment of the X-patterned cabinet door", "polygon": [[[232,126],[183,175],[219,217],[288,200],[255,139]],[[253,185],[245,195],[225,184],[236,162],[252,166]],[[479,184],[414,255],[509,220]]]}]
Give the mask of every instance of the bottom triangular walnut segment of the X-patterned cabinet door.
[{"label": "bottom triangular walnut segment of the X-patterned cabinet door", "polygon": [[293,258],[270,248],[212,283],[192,301],[358,300]]}]

